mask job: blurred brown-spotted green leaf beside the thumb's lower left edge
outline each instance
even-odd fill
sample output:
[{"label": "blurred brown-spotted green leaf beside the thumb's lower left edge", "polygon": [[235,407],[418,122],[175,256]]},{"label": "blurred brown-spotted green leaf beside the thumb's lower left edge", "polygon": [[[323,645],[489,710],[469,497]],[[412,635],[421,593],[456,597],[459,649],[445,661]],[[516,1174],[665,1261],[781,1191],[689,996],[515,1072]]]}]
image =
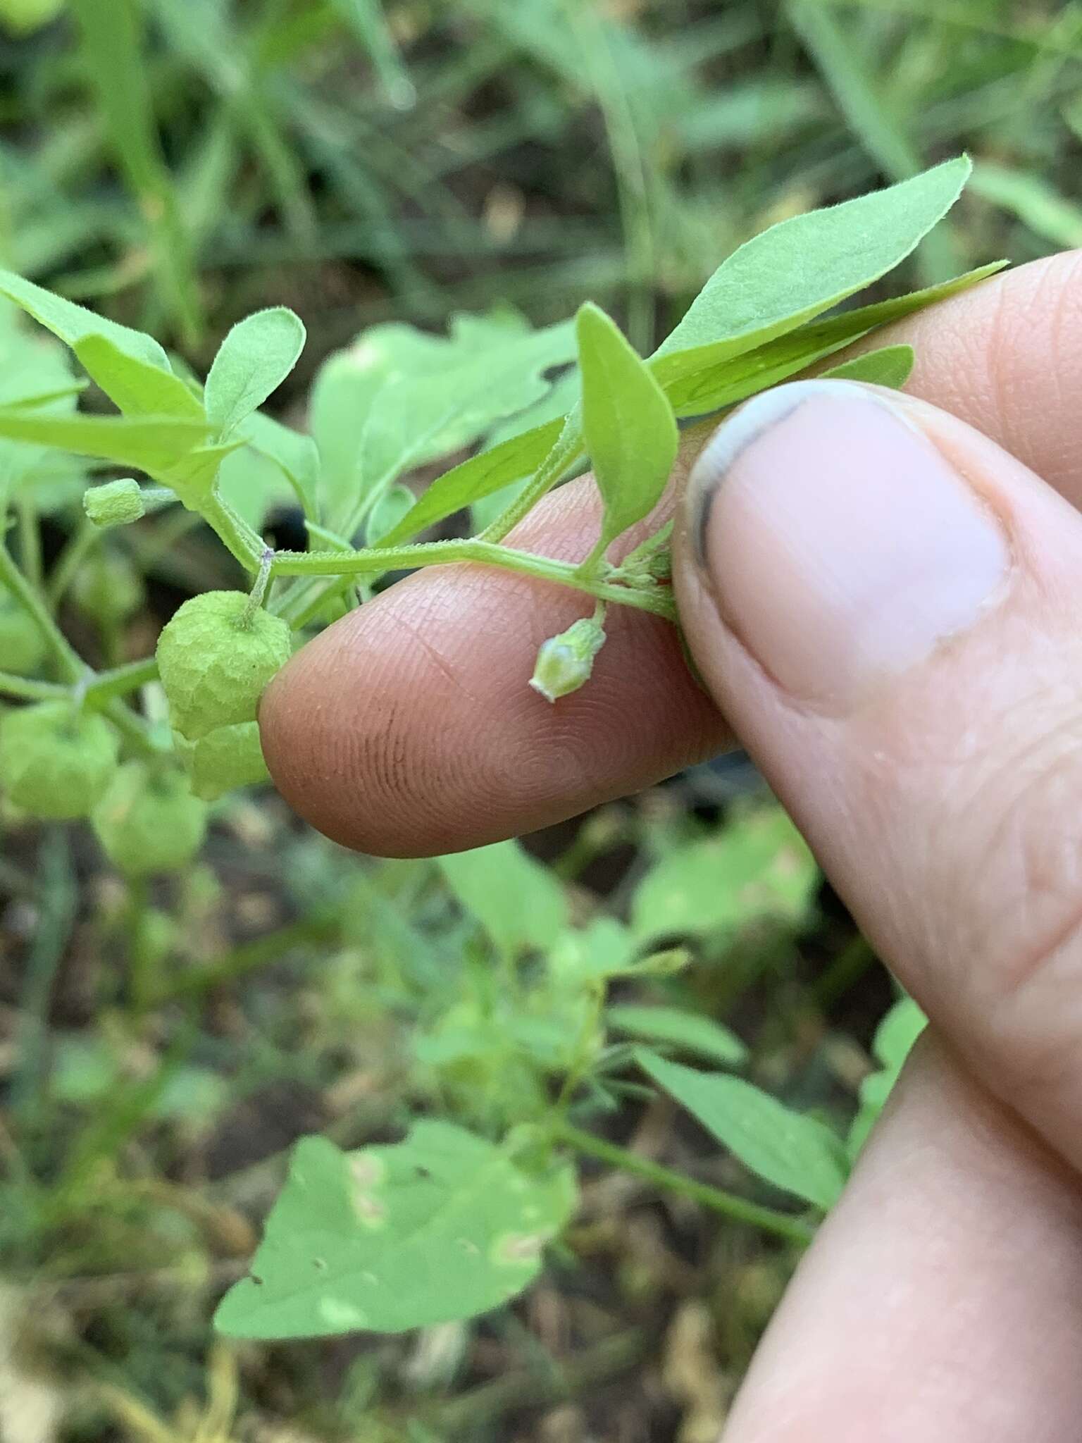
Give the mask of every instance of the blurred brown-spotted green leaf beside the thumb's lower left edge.
[{"label": "blurred brown-spotted green leaf beside the thumb's lower left edge", "polygon": [[819,873],[780,807],[737,814],[718,835],[675,847],[632,898],[639,939],[716,932],[763,921],[802,922]]}]

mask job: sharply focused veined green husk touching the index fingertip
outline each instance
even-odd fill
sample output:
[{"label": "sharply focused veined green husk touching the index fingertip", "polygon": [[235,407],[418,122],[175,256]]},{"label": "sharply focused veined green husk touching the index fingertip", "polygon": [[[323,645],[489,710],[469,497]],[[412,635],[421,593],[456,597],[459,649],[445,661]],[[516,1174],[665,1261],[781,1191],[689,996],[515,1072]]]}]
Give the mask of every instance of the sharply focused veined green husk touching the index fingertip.
[{"label": "sharply focused veined green husk touching the index fingertip", "polygon": [[289,661],[290,629],[250,610],[244,592],[205,592],[180,608],[157,642],[157,668],[173,726],[198,742],[254,722],[263,690]]}]

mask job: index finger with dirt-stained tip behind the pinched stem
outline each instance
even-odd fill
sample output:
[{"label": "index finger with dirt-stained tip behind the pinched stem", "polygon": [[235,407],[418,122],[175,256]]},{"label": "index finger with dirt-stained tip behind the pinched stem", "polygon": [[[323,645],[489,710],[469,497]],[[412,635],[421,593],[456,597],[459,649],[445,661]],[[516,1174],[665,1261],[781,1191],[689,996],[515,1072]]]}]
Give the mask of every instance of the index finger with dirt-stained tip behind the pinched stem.
[{"label": "index finger with dirt-stained tip behind the pinched stem", "polygon": [[[915,345],[907,390],[951,410],[1082,505],[1082,253],[1034,261],[884,333]],[[881,345],[877,338],[876,343]],[[685,433],[675,482],[710,434]],[[597,535],[589,478],[518,528],[561,558]],[[433,567],[329,626],[276,677],[263,747],[320,831],[381,856],[521,835],[639,791],[731,740],[675,629],[612,608],[587,687],[551,706],[527,683],[584,597],[478,566]]]}]

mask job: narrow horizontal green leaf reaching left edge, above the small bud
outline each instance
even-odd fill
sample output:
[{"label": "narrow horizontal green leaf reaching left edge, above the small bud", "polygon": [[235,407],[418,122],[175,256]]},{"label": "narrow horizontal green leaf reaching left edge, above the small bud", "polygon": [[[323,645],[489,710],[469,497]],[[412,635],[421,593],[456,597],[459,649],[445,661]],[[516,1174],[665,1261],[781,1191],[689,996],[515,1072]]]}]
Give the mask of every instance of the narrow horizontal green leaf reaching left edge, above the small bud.
[{"label": "narrow horizontal green leaf reaching left edge, above the small bud", "polygon": [[58,446],[78,456],[97,456],[160,476],[201,444],[206,426],[170,416],[128,420],[120,416],[42,416],[7,408],[0,410],[0,436]]}]

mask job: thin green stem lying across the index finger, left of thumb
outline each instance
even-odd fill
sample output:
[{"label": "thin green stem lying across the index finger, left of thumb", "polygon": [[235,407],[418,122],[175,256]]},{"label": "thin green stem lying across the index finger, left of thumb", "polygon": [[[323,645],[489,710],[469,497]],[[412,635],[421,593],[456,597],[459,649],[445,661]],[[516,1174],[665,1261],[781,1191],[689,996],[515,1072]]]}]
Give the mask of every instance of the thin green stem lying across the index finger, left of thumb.
[{"label": "thin green stem lying across the index finger, left of thumb", "polygon": [[[633,606],[655,616],[672,620],[677,615],[671,593],[662,587],[632,590],[619,582],[583,577],[579,567],[567,561],[554,561],[531,551],[514,551],[491,541],[472,538],[466,541],[424,541],[403,547],[368,547],[361,551],[278,551],[274,557],[274,576],[368,576],[394,571],[400,567],[446,566],[453,561],[476,561],[482,566],[499,566],[508,571],[535,576],[541,582],[554,582],[577,592],[586,592],[603,602],[617,602]],[[322,600],[322,599],[320,599]],[[300,625],[297,618],[290,618]]]}]

